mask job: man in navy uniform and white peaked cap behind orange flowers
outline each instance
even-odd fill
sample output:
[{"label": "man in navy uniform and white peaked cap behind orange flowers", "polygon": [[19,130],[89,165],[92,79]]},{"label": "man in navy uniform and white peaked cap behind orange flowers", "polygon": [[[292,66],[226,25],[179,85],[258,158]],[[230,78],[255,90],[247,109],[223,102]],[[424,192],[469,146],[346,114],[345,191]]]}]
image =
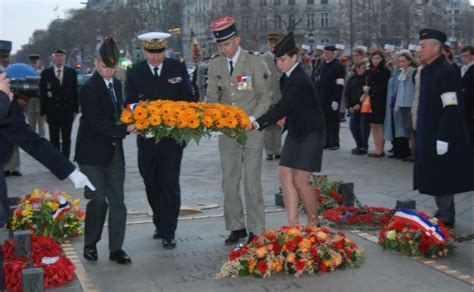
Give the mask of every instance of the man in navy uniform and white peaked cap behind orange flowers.
[{"label": "man in navy uniform and white peaked cap behind orange flowers", "polygon": [[[140,35],[146,60],[127,71],[126,104],[140,100],[194,101],[186,65],[165,57],[168,33],[149,32]],[[148,202],[153,210],[156,230],[167,249],[175,248],[175,231],[181,206],[179,174],[185,145],[171,138],[156,143],[154,137],[138,136],[138,168]]]}]

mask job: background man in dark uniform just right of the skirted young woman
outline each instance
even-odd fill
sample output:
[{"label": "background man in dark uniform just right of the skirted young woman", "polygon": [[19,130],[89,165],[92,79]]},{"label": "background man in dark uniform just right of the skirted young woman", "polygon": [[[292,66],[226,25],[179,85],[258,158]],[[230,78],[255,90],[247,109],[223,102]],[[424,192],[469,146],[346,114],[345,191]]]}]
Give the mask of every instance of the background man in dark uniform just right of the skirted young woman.
[{"label": "background man in dark uniform just right of the skirted young woman", "polygon": [[326,146],[329,150],[339,149],[339,108],[344,89],[344,66],[336,58],[336,47],[324,47],[325,62],[315,75],[316,91],[326,119]]}]

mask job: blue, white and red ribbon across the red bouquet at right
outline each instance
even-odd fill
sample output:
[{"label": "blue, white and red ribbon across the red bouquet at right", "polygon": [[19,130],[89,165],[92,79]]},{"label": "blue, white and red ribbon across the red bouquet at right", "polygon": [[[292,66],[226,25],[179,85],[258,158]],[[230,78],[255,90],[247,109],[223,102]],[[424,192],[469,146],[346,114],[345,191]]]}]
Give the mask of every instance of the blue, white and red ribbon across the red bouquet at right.
[{"label": "blue, white and red ribbon across the red bouquet at right", "polygon": [[431,223],[417,212],[399,208],[392,217],[392,220],[407,223],[412,228],[422,230],[427,236],[432,238],[437,243],[445,243],[446,236],[441,232],[438,225]]}]

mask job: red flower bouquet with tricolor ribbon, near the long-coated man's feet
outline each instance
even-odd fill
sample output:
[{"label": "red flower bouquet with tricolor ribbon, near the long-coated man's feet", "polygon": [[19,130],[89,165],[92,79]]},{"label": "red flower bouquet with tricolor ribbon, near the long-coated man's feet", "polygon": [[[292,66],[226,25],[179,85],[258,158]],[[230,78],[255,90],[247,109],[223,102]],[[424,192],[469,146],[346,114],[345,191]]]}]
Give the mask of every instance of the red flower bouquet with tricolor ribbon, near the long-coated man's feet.
[{"label": "red flower bouquet with tricolor ribbon, near the long-coated man's feet", "polygon": [[455,235],[443,222],[422,212],[400,208],[379,232],[379,244],[410,256],[447,256]]}]

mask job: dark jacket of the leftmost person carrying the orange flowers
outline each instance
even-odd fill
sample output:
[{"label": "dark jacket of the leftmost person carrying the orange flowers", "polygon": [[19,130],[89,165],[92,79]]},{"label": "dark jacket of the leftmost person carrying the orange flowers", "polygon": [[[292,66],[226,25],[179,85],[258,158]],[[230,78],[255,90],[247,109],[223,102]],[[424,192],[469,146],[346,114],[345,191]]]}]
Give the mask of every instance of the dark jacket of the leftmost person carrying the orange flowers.
[{"label": "dark jacket of the leftmost person carrying the orange flowers", "polygon": [[117,97],[115,109],[109,89],[98,73],[94,73],[81,88],[82,116],[75,158],[79,163],[106,167],[112,161],[116,145],[121,146],[127,135],[127,125],[117,123],[123,104],[122,84],[115,78],[113,84]]}]

